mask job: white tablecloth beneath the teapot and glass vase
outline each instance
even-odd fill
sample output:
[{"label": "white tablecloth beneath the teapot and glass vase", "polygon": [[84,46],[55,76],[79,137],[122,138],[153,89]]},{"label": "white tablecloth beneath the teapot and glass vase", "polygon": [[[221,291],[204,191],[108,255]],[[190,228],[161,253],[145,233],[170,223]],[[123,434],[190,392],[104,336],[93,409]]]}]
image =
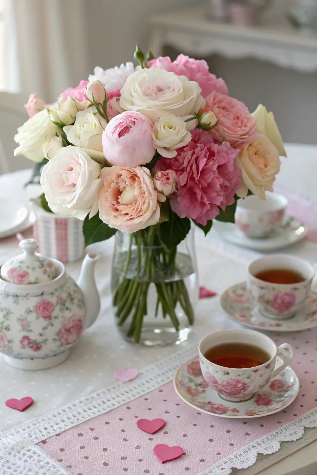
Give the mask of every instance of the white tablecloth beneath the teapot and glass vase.
[{"label": "white tablecloth beneath the teapot and glass vase", "polygon": [[[283,159],[279,183],[297,193],[317,199],[317,147],[292,144],[287,146],[287,152],[288,159]],[[18,171],[0,176],[0,197],[12,196],[12,199],[26,202],[28,197],[40,194],[40,189],[36,186],[22,190],[28,174],[29,171]],[[0,240],[0,264],[18,253],[17,246],[15,237]],[[141,369],[178,349],[175,346],[144,348],[122,340],[116,331],[110,310],[113,239],[96,243],[89,248],[92,249],[102,255],[96,265],[96,281],[101,295],[101,311],[96,323],[85,331],[67,361],[54,368],[21,371],[0,360],[0,431],[109,385],[115,380],[113,371],[117,368]],[[247,262],[258,255],[257,252],[222,242],[215,231],[211,231],[205,238],[197,230],[196,250],[200,284],[218,294],[228,286],[244,280]],[[317,261],[317,245],[308,241],[288,248],[285,252],[306,257],[311,262]],[[78,276],[80,262],[66,267],[73,277]],[[219,297],[200,300],[189,342],[198,341],[204,334],[226,326],[232,326],[232,322],[220,309]],[[25,412],[14,411],[4,405],[6,399],[20,399],[23,396],[31,396],[35,400]]]}]

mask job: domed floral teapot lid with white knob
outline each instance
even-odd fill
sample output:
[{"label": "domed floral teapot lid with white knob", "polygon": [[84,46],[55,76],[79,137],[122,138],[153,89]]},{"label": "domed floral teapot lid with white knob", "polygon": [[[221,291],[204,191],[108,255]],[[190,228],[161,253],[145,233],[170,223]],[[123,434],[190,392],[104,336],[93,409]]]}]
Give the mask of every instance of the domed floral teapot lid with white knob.
[{"label": "domed floral teapot lid with white knob", "polygon": [[13,284],[44,284],[56,277],[55,264],[47,257],[35,252],[35,239],[23,239],[19,243],[23,254],[12,257],[0,269],[0,277]]}]

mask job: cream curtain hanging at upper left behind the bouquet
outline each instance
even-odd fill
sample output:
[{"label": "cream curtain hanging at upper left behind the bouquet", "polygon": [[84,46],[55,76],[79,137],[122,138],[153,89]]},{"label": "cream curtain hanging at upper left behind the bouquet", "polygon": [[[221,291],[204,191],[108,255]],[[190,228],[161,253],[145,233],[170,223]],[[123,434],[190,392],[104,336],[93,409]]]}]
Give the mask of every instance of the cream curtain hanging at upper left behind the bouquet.
[{"label": "cream curtain hanging at upper left behind the bouquet", "polygon": [[86,79],[84,0],[9,0],[6,23],[9,90],[49,103]]}]

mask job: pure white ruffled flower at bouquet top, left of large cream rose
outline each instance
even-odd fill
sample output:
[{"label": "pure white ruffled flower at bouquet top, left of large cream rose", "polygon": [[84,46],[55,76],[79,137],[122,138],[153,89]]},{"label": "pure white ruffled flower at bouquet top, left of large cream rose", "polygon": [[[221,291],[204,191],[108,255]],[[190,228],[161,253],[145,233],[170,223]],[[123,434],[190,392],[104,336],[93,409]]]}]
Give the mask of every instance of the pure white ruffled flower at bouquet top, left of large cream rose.
[{"label": "pure white ruffled flower at bouquet top, left of large cream rose", "polygon": [[[138,69],[138,66],[136,69]],[[98,79],[105,86],[106,91],[114,92],[125,84],[127,77],[134,73],[134,64],[127,62],[120,66],[110,67],[109,69],[103,69],[100,66],[96,66],[94,70],[95,74],[90,74],[89,81]]]}]

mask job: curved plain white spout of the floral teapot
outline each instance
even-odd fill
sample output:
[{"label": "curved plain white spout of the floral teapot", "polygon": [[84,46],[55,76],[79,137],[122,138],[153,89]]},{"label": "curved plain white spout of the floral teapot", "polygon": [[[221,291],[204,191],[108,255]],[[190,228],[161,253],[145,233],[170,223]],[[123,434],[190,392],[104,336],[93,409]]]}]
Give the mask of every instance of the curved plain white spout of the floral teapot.
[{"label": "curved plain white spout of the floral teapot", "polygon": [[85,328],[95,322],[100,310],[100,297],[94,276],[96,261],[99,258],[100,255],[93,252],[86,254],[77,280],[85,298]]}]

